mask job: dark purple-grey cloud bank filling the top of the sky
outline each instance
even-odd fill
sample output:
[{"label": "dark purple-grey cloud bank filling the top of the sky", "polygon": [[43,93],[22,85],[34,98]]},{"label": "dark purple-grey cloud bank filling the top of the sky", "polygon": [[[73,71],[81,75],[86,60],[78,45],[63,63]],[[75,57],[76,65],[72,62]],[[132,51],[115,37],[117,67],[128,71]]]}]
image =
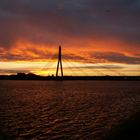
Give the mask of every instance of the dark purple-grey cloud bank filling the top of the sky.
[{"label": "dark purple-grey cloud bank filling the top of the sky", "polygon": [[58,44],[71,36],[138,45],[139,16],[139,0],[0,0],[0,45],[18,39]]}]

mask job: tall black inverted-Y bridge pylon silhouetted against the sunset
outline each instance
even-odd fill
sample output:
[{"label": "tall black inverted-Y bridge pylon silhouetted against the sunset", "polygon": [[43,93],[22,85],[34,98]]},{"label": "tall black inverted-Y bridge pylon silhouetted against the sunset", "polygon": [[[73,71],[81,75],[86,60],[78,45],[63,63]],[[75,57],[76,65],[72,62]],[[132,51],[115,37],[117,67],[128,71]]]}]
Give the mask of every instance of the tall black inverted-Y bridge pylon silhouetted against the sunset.
[{"label": "tall black inverted-Y bridge pylon silhouetted against the sunset", "polygon": [[58,63],[57,63],[57,69],[56,69],[56,77],[58,77],[59,67],[61,70],[61,77],[63,78],[61,46],[59,46],[59,50],[58,50]]}]

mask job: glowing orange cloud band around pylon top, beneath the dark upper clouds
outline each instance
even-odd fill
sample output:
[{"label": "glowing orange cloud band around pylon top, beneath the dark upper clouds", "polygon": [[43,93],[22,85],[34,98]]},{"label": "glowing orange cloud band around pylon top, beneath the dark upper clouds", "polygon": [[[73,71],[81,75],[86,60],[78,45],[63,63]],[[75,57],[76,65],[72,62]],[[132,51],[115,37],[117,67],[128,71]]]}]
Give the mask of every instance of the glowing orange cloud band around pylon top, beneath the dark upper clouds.
[{"label": "glowing orange cloud band around pylon top, beneath the dark upper clouds", "polygon": [[[62,44],[63,59],[87,62],[105,62],[91,54],[96,52],[112,52],[135,57],[136,52],[131,45],[117,40],[72,40],[70,44]],[[139,51],[139,50],[138,50]],[[17,41],[10,48],[0,48],[1,61],[54,61],[57,59],[58,45],[35,44],[28,41]],[[131,61],[130,57],[130,61]],[[139,58],[139,56],[136,56]],[[107,60],[109,61],[109,60]],[[119,61],[118,61],[119,63]],[[120,61],[122,63],[122,61]]]}]

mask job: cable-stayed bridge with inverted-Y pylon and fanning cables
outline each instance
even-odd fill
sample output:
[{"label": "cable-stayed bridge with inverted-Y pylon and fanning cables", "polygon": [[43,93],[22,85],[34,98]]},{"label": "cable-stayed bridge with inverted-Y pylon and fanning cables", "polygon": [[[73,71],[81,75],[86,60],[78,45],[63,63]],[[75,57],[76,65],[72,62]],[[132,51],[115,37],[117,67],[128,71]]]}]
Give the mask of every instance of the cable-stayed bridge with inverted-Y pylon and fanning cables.
[{"label": "cable-stayed bridge with inverted-Y pylon and fanning cables", "polygon": [[[65,53],[71,54],[66,49],[63,49]],[[114,76],[126,76],[124,72],[116,70],[115,67],[110,67],[108,65],[102,63],[79,63],[72,61],[72,54],[70,57],[67,55],[62,54],[62,47],[59,46],[58,54],[57,54],[57,64],[55,63],[46,63],[46,65],[41,69],[42,71],[48,72],[48,75],[54,75],[56,77],[63,77],[63,76],[109,76],[109,74]],[[51,59],[54,59],[52,56]],[[76,54],[76,57],[81,58],[81,56]],[[82,59],[82,58],[81,58]],[[63,66],[64,64],[64,66]],[[49,73],[53,69],[53,73]],[[69,71],[67,74],[66,71]]]}]

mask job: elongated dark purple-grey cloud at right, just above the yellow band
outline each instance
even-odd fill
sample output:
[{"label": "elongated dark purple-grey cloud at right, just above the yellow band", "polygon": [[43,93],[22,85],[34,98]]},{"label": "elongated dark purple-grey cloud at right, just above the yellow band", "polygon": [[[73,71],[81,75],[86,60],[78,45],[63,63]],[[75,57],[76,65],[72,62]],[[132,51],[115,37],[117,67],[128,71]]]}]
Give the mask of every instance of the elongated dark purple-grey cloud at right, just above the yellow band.
[{"label": "elongated dark purple-grey cloud at right, just above the yellow band", "polygon": [[102,62],[115,62],[125,64],[140,64],[140,57],[127,56],[123,53],[114,52],[95,52],[91,55],[92,58],[100,60]]}]

